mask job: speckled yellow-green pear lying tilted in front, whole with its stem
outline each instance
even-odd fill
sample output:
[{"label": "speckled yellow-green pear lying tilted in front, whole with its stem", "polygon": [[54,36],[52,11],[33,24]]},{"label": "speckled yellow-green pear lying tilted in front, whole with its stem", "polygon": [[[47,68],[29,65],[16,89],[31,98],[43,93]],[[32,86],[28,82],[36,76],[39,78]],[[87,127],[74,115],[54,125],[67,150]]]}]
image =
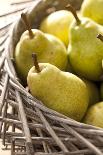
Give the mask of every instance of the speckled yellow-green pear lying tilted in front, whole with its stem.
[{"label": "speckled yellow-green pear lying tilted in front, whole with its stem", "polygon": [[61,71],[52,64],[38,64],[35,54],[33,57],[35,66],[27,76],[31,94],[48,108],[80,121],[89,102],[85,83],[72,73]]}]

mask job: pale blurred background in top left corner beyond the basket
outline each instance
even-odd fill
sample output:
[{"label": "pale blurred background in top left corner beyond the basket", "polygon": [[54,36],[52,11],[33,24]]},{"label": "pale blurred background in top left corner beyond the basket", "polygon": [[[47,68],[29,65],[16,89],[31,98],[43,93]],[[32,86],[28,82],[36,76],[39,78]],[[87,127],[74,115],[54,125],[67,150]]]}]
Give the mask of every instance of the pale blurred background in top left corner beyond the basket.
[{"label": "pale blurred background in top left corner beyond the basket", "polygon": [[0,0],[0,28],[14,22],[35,0]]}]

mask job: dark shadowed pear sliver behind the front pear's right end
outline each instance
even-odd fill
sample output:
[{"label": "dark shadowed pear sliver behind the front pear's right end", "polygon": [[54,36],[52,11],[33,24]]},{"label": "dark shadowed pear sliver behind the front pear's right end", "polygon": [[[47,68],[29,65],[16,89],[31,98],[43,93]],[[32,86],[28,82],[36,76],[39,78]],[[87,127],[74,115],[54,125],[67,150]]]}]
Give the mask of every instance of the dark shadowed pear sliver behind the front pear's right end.
[{"label": "dark shadowed pear sliver behind the front pear's right end", "polygon": [[89,81],[87,79],[82,78],[82,80],[85,82],[89,94],[89,106],[92,104],[95,104],[100,101],[100,94],[99,94],[99,88],[97,85]]}]

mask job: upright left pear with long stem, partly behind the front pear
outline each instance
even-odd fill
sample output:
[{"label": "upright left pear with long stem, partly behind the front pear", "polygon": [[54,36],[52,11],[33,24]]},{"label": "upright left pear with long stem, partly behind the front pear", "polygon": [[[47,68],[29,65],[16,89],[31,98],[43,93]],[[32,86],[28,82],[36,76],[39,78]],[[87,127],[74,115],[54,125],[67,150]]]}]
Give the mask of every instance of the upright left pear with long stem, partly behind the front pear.
[{"label": "upright left pear with long stem, partly behind the front pear", "polygon": [[39,62],[51,63],[65,70],[68,53],[64,44],[55,36],[30,28],[25,14],[22,14],[27,29],[21,36],[15,49],[16,70],[22,81],[26,82],[29,69],[32,67],[31,54],[38,53]]}]

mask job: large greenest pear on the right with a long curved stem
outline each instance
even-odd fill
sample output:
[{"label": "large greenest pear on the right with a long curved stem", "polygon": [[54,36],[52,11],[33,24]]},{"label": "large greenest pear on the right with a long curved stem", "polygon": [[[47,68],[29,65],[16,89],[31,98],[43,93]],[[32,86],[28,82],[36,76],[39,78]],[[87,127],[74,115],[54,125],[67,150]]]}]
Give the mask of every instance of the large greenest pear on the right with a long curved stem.
[{"label": "large greenest pear on the right with a long curved stem", "polygon": [[68,6],[68,10],[76,19],[70,26],[70,64],[78,75],[99,81],[103,73],[103,43],[96,36],[98,33],[103,34],[103,27],[89,18],[79,18],[71,6]]}]

